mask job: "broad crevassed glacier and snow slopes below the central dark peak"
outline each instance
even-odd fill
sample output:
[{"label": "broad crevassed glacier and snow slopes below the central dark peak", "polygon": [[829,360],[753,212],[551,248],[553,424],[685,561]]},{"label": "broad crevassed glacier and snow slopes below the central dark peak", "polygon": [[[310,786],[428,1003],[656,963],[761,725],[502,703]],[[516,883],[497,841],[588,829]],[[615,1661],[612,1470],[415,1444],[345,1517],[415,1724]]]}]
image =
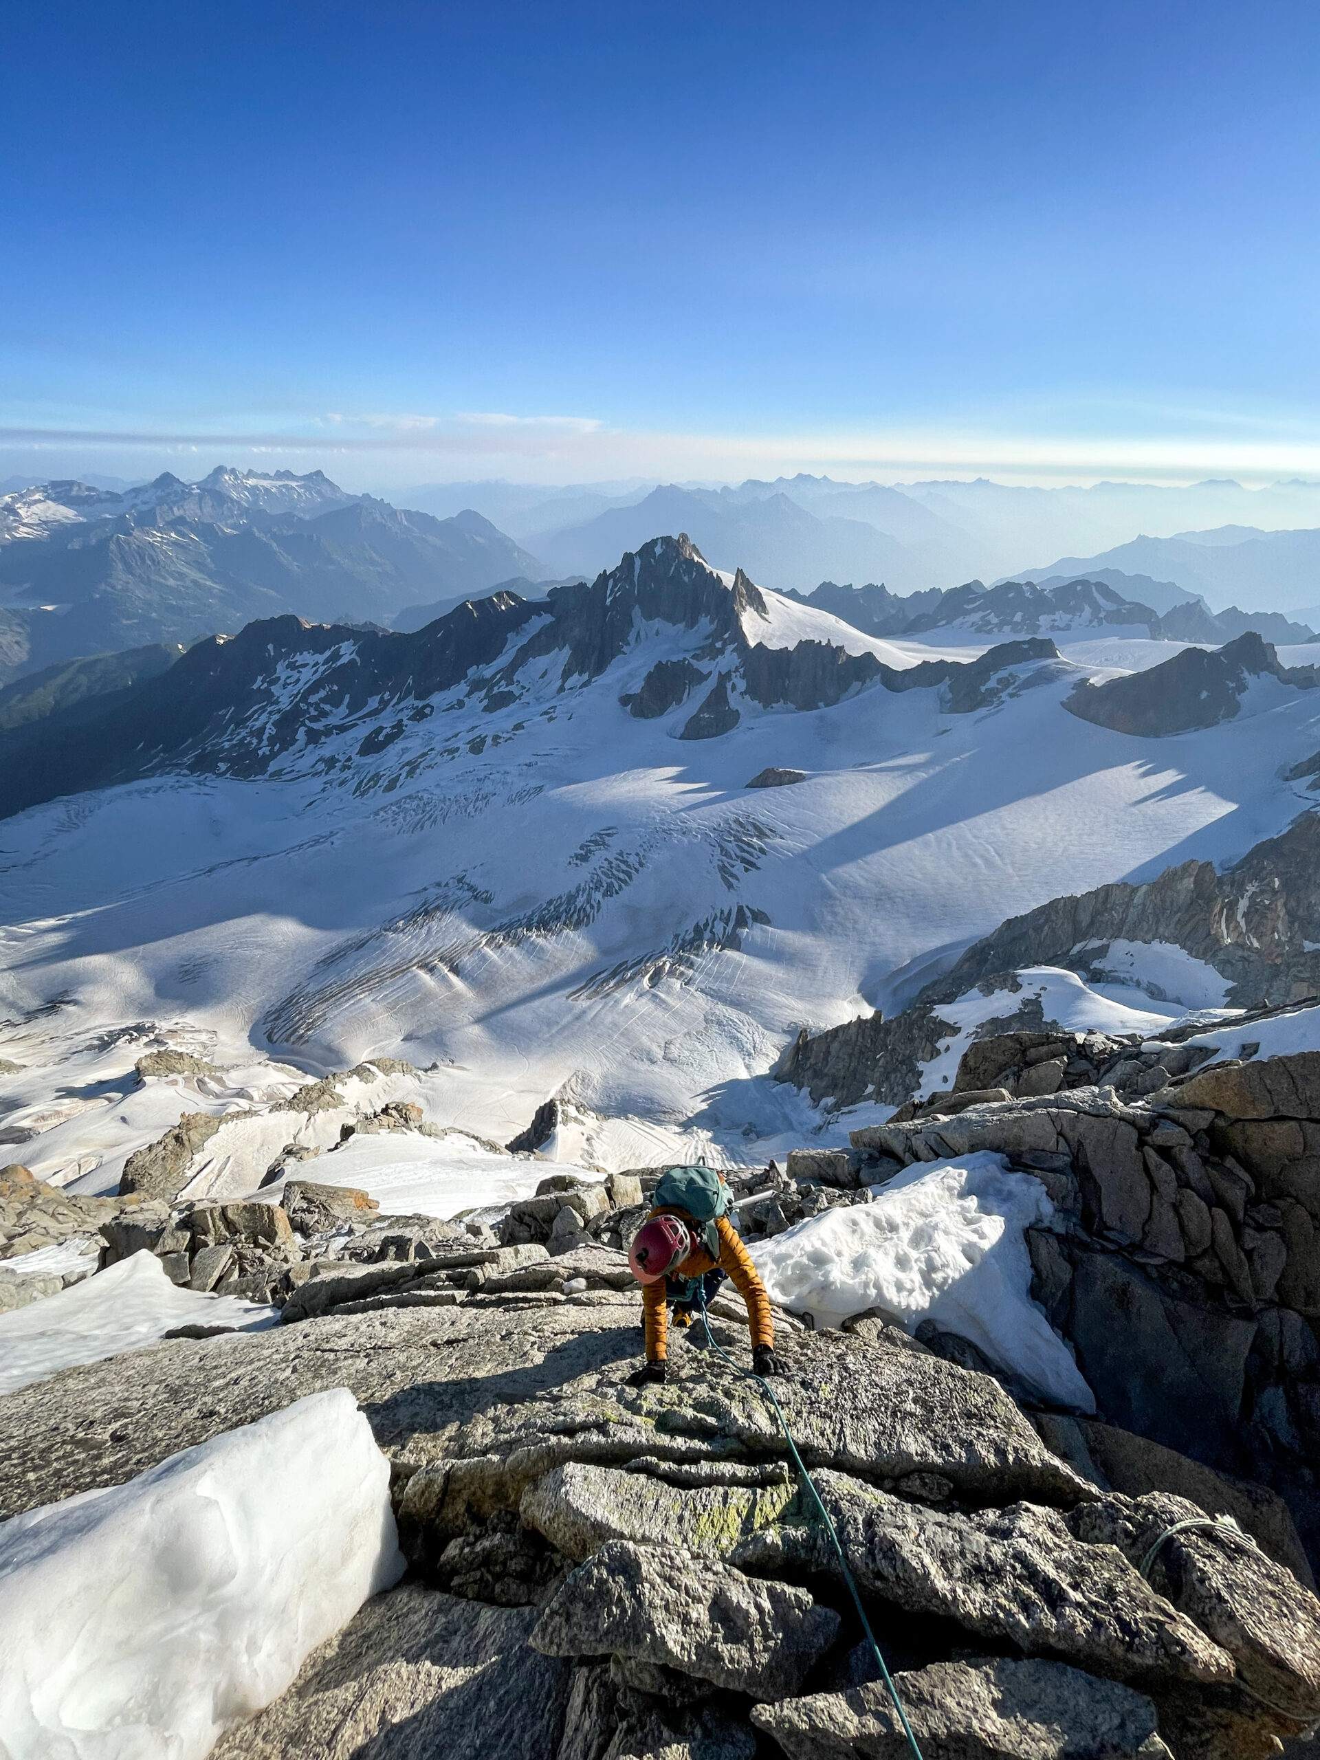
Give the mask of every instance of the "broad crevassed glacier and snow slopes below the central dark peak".
[{"label": "broad crevassed glacier and snow slopes below the central dark peak", "polygon": [[[245,1089],[273,1093],[294,1065],[391,1054],[438,1065],[419,1100],[436,1125],[503,1142],[567,1093],[632,1121],[597,1163],[685,1132],[759,1160],[811,1123],[766,1079],[799,1026],[887,1005],[898,973],[1044,899],[1237,857],[1309,799],[1283,773],[1320,746],[1320,693],[1165,739],[1067,715],[1091,669],[1060,660],[1008,669],[972,713],[882,678],[767,708],[744,688],[743,630],[896,672],[926,655],[778,595],[739,609],[727,577],[708,588],[690,623],[616,595],[604,660],[598,632],[533,609],[495,664],[422,702],[375,685],[350,702],[345,635],[282,658],[216,723],[211,774],[165,766],[4,822],[11,1153],[113,1186],[185,1109],[130,1075],[157,1033],[236,1067],[211,1111],[264,1104]],[[662,660],[706,683],[637,718],[620,699]],[[716,674],[737,723],[681,737]],[[252,774],[253,753],[252,780],[225,773]],[[748,790],[766,767],[806,780]],[[134,1038],[134,1023],[153,1024]]]}]

